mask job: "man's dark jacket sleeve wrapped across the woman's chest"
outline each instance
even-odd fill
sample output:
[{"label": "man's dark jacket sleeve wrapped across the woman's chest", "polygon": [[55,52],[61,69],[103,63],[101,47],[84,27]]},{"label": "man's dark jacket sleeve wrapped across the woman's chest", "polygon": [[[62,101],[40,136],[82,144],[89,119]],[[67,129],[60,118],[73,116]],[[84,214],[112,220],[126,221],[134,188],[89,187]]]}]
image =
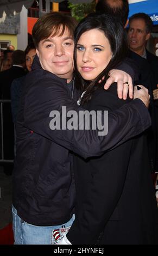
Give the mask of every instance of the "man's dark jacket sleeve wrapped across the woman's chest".
[{"label": "man's dark jacket sleeve wrapped across the woman's chest", "polygon": [[36,86],[30,86],[23,101],[24,119],[21,124],[24,127],[85,158],[101,155],[150,126],[148,109],[141,100],[136,99],[116,111],[109,112],[106,136],[98,136],[99,129],[92,130],[91,125],[90,130],[79,129],[81,124],[78,124],[76,130],[68,130],[65,125],[64,127],[60,125],[59,130],[51,130],[50,112],[58,111],[60,114],[58,121],[63,124],[66,118],[66,114],[62,114],[63,106],[66,107],[67,112],[75,111],[78,117],[83,109],[68,95],[65,84],[61,84],[58,80],[53,82],[49,78],[40,80]]}]

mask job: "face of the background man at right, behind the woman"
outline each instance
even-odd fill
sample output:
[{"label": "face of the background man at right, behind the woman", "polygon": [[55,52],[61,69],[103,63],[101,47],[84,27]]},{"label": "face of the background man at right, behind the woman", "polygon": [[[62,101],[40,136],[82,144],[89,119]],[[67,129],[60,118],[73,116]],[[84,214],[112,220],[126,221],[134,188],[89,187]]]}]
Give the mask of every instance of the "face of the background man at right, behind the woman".
[{"label": "face of the background man at right, behind the woman", "polygon": [[128,41],[132,51],[137,52],[143,50],[149,38],[150,33],[146,32],[146,23],[143,19],[135,19],[130,22]]}]

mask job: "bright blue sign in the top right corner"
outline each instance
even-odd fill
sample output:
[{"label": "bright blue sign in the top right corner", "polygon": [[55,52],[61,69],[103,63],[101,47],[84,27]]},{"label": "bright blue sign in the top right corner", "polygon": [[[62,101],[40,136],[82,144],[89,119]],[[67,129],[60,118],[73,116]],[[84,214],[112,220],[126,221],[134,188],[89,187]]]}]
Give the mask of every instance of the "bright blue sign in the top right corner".
[{"label": "bright blue sign in the top right corner", "polygon": [[135,13],[146,13],[158,25],[158,0],[147,0],[129,4],[129,17]]}]

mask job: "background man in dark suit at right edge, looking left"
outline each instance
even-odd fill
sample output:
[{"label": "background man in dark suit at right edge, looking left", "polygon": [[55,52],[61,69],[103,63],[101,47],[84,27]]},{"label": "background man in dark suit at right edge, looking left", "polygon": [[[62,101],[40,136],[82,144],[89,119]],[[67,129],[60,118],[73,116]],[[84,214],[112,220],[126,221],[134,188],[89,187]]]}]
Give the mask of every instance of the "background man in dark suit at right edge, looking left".
[{"label": "background man in dark suit at right edge, looking left", "polygon": [[[153,30],[153,21],[150,16],[145,13],[136,13],[129,19],[128,40],[129,47],[134,54],[141,56],[143,60],[149,64],[151,73],[151,94],[153,92],[154,100],[150,107],[152,123],[154,124],[153,130],[150,131],[149,139],[151,141],[149,153],[151,152],[150,159],[151,166],[153,165],[153,172],[158,172],[158,57],[150,53],[147,48],[147,41],[150,39]],[[155,113],[154,113],[155,112]],[[150,142],[149,141],[149,142]],[[153,163],[153,164],[152,164]]]}]

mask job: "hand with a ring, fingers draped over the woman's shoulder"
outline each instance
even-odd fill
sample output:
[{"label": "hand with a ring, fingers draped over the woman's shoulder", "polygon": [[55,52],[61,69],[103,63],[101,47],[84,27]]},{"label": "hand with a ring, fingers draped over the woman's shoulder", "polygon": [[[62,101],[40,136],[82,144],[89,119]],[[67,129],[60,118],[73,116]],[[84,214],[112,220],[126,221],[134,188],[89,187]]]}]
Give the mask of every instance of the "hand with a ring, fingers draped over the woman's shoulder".
[{"label": "hand with a ring, fingers draped over the woman's shoulder", "polygon": [[132,78],[126,72],[122,70],[112,69],[109,72],[110,77],[105,83],[104,89],[107,90],[111,86],[112,83],[117,83],[117,94],[119,99],[127,99],[127,95],[129,92],[129,96],[132,99],[133,97],[133,84]]}]

